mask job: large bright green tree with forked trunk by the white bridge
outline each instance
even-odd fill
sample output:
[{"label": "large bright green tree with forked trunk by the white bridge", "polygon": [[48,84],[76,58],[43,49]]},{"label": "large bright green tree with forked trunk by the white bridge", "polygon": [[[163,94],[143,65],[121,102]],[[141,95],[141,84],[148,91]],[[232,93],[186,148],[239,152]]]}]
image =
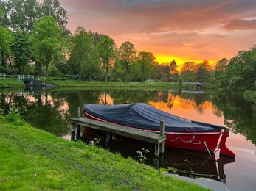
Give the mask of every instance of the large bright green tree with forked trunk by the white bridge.
[{"label": "large bright green tree with forked trunk by the white bridge", "polygon": [[45,66],[47,78],[49,65],[63,56],[63,39],[60,32],[60,28],[52,17],[44,16],[35,22],[29,41],[32,44],[32,54],[39,63],[39,76],[42,74],[41,66]]}]

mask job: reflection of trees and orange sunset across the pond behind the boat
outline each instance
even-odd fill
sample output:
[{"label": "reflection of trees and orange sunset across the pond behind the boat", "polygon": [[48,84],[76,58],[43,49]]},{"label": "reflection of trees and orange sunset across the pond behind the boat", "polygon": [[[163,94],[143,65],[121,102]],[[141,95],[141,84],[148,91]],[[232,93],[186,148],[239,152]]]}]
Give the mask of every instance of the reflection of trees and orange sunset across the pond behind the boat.
[{"label": "reflection of trees and orange sunset across the pond behind the boat", "polygon": [[[24,118],[53,134],[63,135],[77,106],[89,104],[129,104],[144,102],[190,120],[201,120],[232,128],[256,143],[255,104],[238,93],[181,89],[86,89],[43,90],[0,93],[1,113],[20,107]],[[26,108],[26,109],[24,109]],[[56,127],[58,126],[58,127]],[[54,129],[54,130],[53,130]],[[59,129],[59,131],[58,131]]]}]

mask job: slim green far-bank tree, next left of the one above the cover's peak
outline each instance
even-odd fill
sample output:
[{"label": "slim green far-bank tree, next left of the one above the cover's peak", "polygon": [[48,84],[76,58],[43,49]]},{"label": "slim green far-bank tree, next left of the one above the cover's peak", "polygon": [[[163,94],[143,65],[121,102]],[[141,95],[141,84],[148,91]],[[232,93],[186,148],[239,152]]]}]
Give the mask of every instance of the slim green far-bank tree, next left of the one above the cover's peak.
[{"label": "slim green far-bank tree, next left of the one above the cover's peak", "polygon": [[116,43],[114,43],[111,37],[104,36],[97,45],[97,51],[100,55],[103,69],[105,70],[105,82],[108,82],[108,69],[111,68],[111,64],[114,64],[117,58]]}]

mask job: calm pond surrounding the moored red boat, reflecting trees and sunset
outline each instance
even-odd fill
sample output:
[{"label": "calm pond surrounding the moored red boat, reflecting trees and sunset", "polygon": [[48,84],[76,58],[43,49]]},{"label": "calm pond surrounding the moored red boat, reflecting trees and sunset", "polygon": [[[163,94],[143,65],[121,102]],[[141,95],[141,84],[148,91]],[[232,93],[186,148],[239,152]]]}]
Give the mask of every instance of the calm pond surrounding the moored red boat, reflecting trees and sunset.
[{"label": "calm pond surrounding the moored red boat, reflecting trees and sunset", "polygon": [[[143,102],[182,118],[213,123],[231,129],[226,140],[235,159],[210,156],[206,152],[166,148],[156,160],[153,145],[117,139],[105,145],[109,151],[138,159],[148,149],[148,165],[167,169],[170,176],[193,181],[212,190],[255,190],[256,187],[256,106],[238,93],[218,91],[152,89],[63,88],[44,91],[1,90],[0,111],[21,108],[22,116],[39,129],[70,140],[69,118],[76,117],[83,104],[128,104]],[[94,140],[100,134],[89,139]],[[88,138],[88,137],[87,137]]]}]

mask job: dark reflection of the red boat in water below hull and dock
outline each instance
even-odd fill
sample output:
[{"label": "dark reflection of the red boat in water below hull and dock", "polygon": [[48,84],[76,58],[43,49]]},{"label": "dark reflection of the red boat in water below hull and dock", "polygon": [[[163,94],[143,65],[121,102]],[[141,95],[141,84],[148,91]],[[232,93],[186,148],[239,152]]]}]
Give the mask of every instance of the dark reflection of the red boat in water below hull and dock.
[{"label": "dark reflection of the red boat in water below hull and dock", "polygon": [[[229,159],[215,154],[210,156],[203,151],[190,151],[176,148],[165,148],[165,154],[159,158],[154,156],[154,145],[149,145],[139,140],[130,140],[124,137],[117,137],[117,140],[111,143],[105,142],[105,134],[95,129],[85,128],[83,137],[86,143],[95,143],[101,148],[106,148],[113,153],[121,154],[125,157],[131,157],[139,162],[137,151],[147,149],[149,153],[145,155],[146,164],[153,167],[165,168],[169,173],[187,176],[193,179],[207,178],[222,183],[226,182],[224,165],[235,162],[235,159]],[[218,158],[220,157],[220,158]]]}]

